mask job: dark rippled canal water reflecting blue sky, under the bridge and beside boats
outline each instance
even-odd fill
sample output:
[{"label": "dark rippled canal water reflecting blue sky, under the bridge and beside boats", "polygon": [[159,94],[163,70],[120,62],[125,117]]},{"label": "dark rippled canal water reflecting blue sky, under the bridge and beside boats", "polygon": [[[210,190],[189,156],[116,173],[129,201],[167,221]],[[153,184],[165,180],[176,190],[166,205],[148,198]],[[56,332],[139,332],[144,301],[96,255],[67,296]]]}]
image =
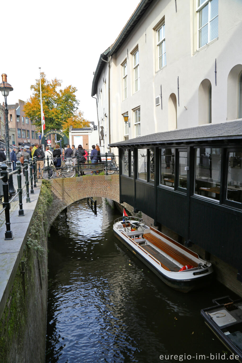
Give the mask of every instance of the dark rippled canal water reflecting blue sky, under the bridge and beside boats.
[{"label": "dark rippled canal water reflecting blue sky, under the bridge and beside boats", "polygon": [[114,237],[117,217],[102,198],[97,213],[81,200],[50,229],[46,363],[210,362],[226,352],[200,310],[231,291],[166,286]]}]

